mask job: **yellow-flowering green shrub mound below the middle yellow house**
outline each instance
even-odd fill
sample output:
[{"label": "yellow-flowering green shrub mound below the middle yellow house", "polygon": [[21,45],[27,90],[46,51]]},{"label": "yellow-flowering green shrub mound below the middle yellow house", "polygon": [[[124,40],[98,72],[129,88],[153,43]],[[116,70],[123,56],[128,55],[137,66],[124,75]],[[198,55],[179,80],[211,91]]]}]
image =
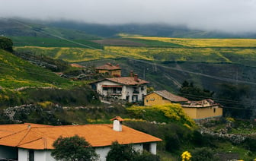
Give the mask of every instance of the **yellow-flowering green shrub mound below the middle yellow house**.
[{"label": "yellow-flowering green shrub mound below the middle yellow house", "polygon": [[180,122],[194,127],[195,122],[189,118],[179,104],[166,104],[158,106],[132,106],[127,109],[136,118],[155,122]]}]

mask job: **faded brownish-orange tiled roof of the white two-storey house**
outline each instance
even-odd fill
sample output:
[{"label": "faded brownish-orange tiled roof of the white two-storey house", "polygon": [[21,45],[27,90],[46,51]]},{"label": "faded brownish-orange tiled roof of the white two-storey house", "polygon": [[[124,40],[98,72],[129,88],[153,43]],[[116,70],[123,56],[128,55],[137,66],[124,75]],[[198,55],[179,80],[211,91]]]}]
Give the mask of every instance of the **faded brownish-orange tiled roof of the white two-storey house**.
[{"label": "faded brownish-orange tiled roof of the white two-storey house", "polygon": [[137,85],[137,84],[148,84],[149,82],[146,80],[142,80],[135,77],[112,77],[112,78],[106,78],[106,80],[110,80],[113,82],[116,82],[118,84],[125,84],[125,85]]}]

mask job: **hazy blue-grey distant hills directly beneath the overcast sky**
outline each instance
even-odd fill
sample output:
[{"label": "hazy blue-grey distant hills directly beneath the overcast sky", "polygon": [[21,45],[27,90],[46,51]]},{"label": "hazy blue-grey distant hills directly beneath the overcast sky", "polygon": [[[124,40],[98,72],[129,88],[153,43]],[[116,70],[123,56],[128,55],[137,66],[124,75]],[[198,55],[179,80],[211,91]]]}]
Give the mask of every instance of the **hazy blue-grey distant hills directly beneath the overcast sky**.
[{"label": "hazy blue-grey distant hills directly beneath the overcast sky", "polygon": [[[81,31],[86,37],[116,37],[118,33],[138,34],[142,36],[165,36],[185,38],[256,38],[256,33],[226,33],[217,31],[191,30],[184,26],[171,26],[170,24],[89,24],[76,21],[39,21],[21,18],[0,18],[0,35],[2,36],[35,36],[45,34],[38,32],[56,28],[66,29],[63,34],[70,35],[69,30]],[[75,37],[77,35],[74,35]],[[82,36],[80,36],[82,37]]]}]

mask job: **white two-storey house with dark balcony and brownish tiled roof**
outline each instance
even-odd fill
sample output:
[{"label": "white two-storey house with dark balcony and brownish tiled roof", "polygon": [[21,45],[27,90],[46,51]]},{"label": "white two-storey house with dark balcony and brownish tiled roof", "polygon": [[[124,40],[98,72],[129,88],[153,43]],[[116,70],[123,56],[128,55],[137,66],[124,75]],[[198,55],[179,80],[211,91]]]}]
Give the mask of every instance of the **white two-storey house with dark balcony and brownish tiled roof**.
[{"label": "white two-storey house with dark balcony and brownish tiled roof", "polygon": [[126,99],[133,103],[142,101],[146,95],[148,81],[138,78],[138,74],[132,77],[112,77],[98,80],[91,83],[93,90],[101,96],[113,97],[116,99]]}]

